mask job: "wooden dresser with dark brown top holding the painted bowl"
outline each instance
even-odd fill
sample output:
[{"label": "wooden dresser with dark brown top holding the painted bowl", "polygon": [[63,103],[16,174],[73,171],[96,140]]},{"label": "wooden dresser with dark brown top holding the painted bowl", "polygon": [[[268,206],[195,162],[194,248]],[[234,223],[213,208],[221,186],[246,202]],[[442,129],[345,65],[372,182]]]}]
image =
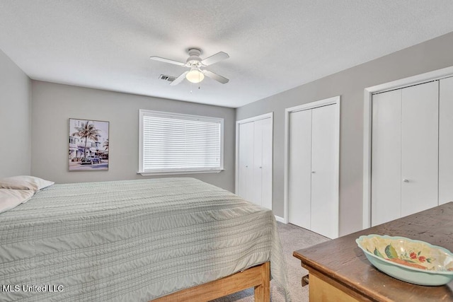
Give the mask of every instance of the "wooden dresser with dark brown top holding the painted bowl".
[{"label": "wooden dresser with dark brown top holding the painted bowl", "polygon": [[[391,209],[389,209],[391,210]],[[361,235],[423,240],[453,251],[453,202],[293,253],[309,270],[310,301],[453,301],[445,286],[409,284],[379,272],[357,247]]]}]

